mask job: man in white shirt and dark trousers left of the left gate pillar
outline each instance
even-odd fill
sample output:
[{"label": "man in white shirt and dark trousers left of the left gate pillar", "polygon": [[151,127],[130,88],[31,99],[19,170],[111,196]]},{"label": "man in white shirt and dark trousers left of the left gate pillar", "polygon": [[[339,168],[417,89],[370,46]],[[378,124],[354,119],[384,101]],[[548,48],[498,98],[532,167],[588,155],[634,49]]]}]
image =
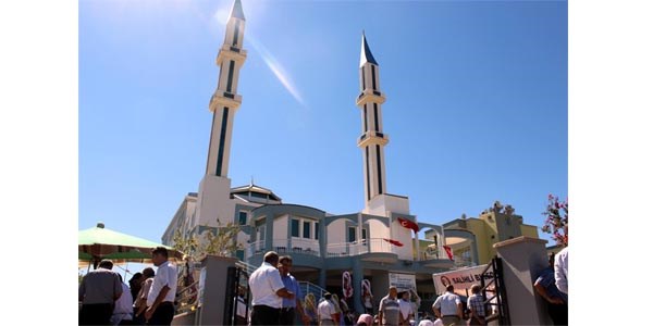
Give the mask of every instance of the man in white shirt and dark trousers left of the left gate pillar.
[{"label": "man in white shirt and dark trousers left of the left gate pillar", "polygon": [[152,250],[152,262],[159,268],[147,294],[145,319],[148,325],[170,325],[174,317],[176,266],[168,261],[168,249],[165,247],[157,247]]}]

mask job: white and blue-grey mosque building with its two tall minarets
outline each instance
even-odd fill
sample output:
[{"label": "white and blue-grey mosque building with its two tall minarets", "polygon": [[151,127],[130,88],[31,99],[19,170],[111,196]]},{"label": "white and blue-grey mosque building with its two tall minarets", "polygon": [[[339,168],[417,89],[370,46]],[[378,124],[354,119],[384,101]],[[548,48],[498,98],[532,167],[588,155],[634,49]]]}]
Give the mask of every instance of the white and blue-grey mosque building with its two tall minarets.
[{"label": "white and blue-grey mosque building with its two tall minarets", "polygon": [[[177,230],[201,236],[231,222],[241,226],[237,241],[243,250],[236,256],[248,264],[260,265],[263,254],[273,250],[293,256],[293,274],[298,280],[338,294],[343,272],[352,277],[354,298],[360,298],[364,279],[370,281],[377,300],[387,293],[391,284],[412,287],[426,297],[435,294],[432,274],[448,271],[455,263],[445,250],[447,230],[420,222],[410,212],[408,197],[387,192],[384,147],[390,138],[382,118],[386,97],[380,87],[380,65],[365,34],[360,93],[356,98],[362,129],[357,145],[362,154],[365,209],[334,215],[317,208],[284,203],[272,190],[254,183],[232,188],[229,163],[234,118],[242,103],[238,75],[247,59],[243,48],[245,22],[241,1],[235,0],[217,58],[218,87],[209,102],[212,126],[206,173],[198,191],[188,192],[182,200],[162,236],[163,243],[172,244]],[[465,244],[458,246],[459,250],[470,252],[469,265],[479,263],[479,254],[485,259],[489,253],[473,249],[477,239],[472,230],[449,226],[452,239],[458,237]],[[356,311],[362,312],[361,301],[354,302]]]}]

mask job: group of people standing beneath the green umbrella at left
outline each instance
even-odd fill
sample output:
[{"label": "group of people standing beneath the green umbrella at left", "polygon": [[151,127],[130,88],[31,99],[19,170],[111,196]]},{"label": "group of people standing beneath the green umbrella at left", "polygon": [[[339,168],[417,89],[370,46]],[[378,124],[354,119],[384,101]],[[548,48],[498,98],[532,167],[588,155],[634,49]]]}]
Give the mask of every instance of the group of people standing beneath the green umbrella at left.
[{"label": "group of people standing beneath the green umbrella at left", "polygon": [[152,250],[155,269],[147,267],[130,279],[113,272],[113,262],[102,260],[82,278],[78,289],[79,325],[170,325],[174,316],[176,266],[168,249]]}]

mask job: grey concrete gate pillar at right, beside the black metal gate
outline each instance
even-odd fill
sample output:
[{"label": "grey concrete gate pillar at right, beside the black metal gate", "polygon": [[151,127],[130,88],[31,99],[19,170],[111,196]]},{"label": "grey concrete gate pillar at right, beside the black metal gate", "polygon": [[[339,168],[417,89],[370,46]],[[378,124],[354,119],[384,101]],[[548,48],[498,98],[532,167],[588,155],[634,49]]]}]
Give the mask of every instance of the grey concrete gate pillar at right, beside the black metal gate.
[{"label": "grey concrete gate pillar at right, beside the black metal gate", "polygon": [[544,300],[533,283],[549,265],[546,240],[519,237],[494,243],[503,260],[503,281],[512,325],[551,325]]}]

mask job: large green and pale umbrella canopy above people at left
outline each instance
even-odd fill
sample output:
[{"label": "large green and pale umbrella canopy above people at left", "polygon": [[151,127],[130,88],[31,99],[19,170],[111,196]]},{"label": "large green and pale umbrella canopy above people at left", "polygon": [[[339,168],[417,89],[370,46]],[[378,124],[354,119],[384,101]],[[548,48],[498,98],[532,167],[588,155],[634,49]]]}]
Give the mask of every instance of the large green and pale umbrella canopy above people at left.
[{"label": "large green and pale umbrella canopy above people at left", "polygon": [[114,263],[144,262],[151,259],[152,249],[156,247],[168,249],[170,258],[183,258],[183,253],[172,247],[110,230],[104,228],[104,224],[101,222],[96,227],[81,230],[77,234],[77,244],[78,260],[93,261],[96,264],[103,259],[114,260]]}]

